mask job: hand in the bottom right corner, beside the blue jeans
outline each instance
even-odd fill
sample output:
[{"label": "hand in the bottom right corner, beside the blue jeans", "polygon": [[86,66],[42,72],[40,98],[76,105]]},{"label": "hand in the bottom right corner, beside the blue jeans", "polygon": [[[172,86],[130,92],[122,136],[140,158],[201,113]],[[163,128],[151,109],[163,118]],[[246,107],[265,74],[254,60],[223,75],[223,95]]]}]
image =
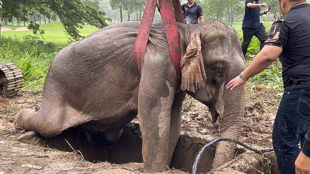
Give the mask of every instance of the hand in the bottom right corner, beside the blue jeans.
[{"label": "hand in the bottom right corner, beside the blue jeans", "polygon": [[295,161],[296,174],[310,174],[310,158],[300,152]]}]

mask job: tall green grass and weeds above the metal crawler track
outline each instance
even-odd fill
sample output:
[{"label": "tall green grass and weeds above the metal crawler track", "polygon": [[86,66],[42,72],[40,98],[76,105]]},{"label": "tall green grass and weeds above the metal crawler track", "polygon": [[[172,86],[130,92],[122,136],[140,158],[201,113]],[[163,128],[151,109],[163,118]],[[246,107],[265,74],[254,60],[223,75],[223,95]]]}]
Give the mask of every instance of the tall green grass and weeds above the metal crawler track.
[{"label": "tall green grass and weeds above the metal crawler track", "polygon": [[62,48],[64,45],[44,43],[37,36],[2,37],[0,62],[14,63],[24,75],[24,86],[42,90],[51,60]]}]

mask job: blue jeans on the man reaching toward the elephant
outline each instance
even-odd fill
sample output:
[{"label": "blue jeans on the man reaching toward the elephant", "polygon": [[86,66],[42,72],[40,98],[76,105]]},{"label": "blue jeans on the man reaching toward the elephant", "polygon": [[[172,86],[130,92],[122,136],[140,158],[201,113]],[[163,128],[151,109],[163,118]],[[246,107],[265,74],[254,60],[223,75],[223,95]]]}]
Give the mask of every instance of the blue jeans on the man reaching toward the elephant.
[{"label": "blue jeans on the man reaching toward the elephant", "polygon": [[272,144],[280,174],[295,174],[299,142],[310,125],[310,81],[292,84],[284,89],[272,130]]}]

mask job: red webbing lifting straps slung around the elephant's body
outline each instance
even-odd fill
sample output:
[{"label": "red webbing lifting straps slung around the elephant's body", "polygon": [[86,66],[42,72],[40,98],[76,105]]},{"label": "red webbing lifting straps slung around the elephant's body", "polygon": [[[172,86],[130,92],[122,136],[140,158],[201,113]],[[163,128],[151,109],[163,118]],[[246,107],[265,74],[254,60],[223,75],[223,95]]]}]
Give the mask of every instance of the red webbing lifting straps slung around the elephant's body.
[{"label": "red webbing lifting straps slung around the elephant's body", "polygon": [[[177,14],[177,20],[184,23],[184,18],[179,0],[173,0],[174,7]],[[139,72],[141,74],[143,58],[148,43],[148,37],[153,23],[154,12],[157,0],[147,0],[145,4],[144,13],[142,16],[141,24],[139,27],[138,35],[135,41],[135,61],[138,65]],[[162,21],[164,24],[166,38],[170,50],[170,55],[175,67],[175,73],[177,76],[177,84],[180,83],[180,39],[178,28],[175,21],[175,15],[173,11],[172,2],[170,0],[159,0],[159,6],[161,9]],[[183,20],[183,21],[182,21]]]}]

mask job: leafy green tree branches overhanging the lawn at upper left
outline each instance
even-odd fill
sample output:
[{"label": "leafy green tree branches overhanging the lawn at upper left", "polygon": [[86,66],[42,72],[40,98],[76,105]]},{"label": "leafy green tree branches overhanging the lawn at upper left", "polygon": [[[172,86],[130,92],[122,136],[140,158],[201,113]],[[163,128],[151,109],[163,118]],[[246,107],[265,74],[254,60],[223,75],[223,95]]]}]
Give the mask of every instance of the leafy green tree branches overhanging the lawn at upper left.
[{"label": "leafy green tree branches overhanging the lawn at upper left", "polygon": [[[79,29],[82,29],[85,24],[103,28],[108,26],[106,21],[111,21],[105,17],[103,11],[86,5],[81,0],[2,0],[2,2],[1,19],[8,18],[11,21],[14,17],[17,20],[29,22],[25,14],[34,18],[40,13],[48,19],[59,18],[66,33],[74,40],[82,38]],[[36,23],[35,18],[34,21],[30,20],[28,28],[32,29],[34,34],[44,33],[44,30],[40,30],[40,25]],[[68,39],[71,40],[69,36]]]}]

